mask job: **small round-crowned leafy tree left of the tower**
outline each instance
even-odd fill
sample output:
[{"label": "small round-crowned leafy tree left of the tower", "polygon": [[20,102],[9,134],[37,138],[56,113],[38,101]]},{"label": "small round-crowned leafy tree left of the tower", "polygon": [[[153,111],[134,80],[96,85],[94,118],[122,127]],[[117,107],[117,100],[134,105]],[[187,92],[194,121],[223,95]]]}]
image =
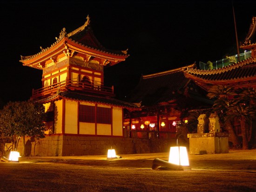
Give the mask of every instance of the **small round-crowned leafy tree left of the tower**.
[{"label": "small round-crowned leafy tree left of the tower", "polygon": [[42,104],[31,101],[9,102],[0,112],[0,133],[12,137],[14,150],[19,139],[23,138],[23,155],[25,154],[25,137],[44,138],[46,130],[45,108]]}]

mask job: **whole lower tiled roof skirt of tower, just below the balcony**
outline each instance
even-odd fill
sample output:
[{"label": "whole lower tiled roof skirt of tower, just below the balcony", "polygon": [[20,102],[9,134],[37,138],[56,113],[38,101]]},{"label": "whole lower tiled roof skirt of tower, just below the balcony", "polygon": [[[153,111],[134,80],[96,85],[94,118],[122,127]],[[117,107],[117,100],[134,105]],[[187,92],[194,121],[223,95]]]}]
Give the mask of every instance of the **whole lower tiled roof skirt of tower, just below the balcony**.
[{"label": "whole lower tiled roof skirt of tower, just below the balcony", "polygon": [[37,100],[37,102],[44,103],[44,102],[49,102],[49,101],[57,100],[57,99],[70,99],[70,100],[76,100],[76,101],[85,101],[85,102],[89,102],[89,103],[98,103],[98,104],[103,104],[103,105],[108,105],[108,106],[118,106],[118,107],[123,107],[123,108],[127,108],[127,109],[136,109],[136,110],[138,110],[140,107],[140,104],[138,104],[138,103],[131,103],[131,102],[122,101],[119,99],[114,99],[111,97],[92,96],[92,95],[88,95],[86,93],[75,92],[75,91],[65,91],[65,92],[57,93],[48,98]]}]

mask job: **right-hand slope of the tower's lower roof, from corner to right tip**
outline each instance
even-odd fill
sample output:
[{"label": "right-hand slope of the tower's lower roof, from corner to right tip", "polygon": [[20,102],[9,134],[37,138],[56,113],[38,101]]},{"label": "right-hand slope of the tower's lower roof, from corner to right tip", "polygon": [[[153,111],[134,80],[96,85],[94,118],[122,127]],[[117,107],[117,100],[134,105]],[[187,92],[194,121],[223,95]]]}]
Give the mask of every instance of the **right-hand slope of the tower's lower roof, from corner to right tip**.
[{"label": "right-hand slope of the tower's lower roof, from corner to right tip", "polygon": [[139,108],[138,103],[129,103],[126,101],[110,98],[110,97],[100,97],[100,96],[92,96],[92,95],[87,95],[83,93],[78,93],[74,91],[66,91],[59,93],[61,98],[65,99],[73,99],[73,100],[79,100],[79,101],[87,101],[91,103],[101,103],[101,104],[106,104],[110,106],[121,106],[124,108]]}]

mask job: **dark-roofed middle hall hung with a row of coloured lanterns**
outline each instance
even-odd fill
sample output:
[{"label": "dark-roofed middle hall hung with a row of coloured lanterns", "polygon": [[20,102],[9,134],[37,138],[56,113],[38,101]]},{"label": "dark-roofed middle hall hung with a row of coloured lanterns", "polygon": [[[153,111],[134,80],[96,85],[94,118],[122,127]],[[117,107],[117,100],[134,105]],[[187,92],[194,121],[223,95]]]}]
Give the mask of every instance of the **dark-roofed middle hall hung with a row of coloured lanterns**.
[{"label": "dark-roofed middle hall hung with a row of coloured lanterns", "polygon": [[125,113],[124,127],[130,137],[175,139],[189,110],[212,106],[207,92],[185,77],[186,68],[195,68],[195,64],[141,76],[129,97],[130,102],[141,103],[141,111]]}]

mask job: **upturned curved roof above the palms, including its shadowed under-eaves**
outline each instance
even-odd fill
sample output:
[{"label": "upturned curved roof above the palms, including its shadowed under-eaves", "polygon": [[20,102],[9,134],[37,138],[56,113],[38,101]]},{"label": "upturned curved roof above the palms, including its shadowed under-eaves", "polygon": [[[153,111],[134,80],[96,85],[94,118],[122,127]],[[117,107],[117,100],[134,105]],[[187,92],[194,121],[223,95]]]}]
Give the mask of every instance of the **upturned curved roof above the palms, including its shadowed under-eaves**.
[{"label": "upturned curved roof above the palms, including its shadowed under-eaves", "polygon": [[207,90],[211,84],[239,84],[256,78],[256,58],[250,57],[223,68],[199,70],[195,68],[182,69],[185,76],[194,80]]}]

